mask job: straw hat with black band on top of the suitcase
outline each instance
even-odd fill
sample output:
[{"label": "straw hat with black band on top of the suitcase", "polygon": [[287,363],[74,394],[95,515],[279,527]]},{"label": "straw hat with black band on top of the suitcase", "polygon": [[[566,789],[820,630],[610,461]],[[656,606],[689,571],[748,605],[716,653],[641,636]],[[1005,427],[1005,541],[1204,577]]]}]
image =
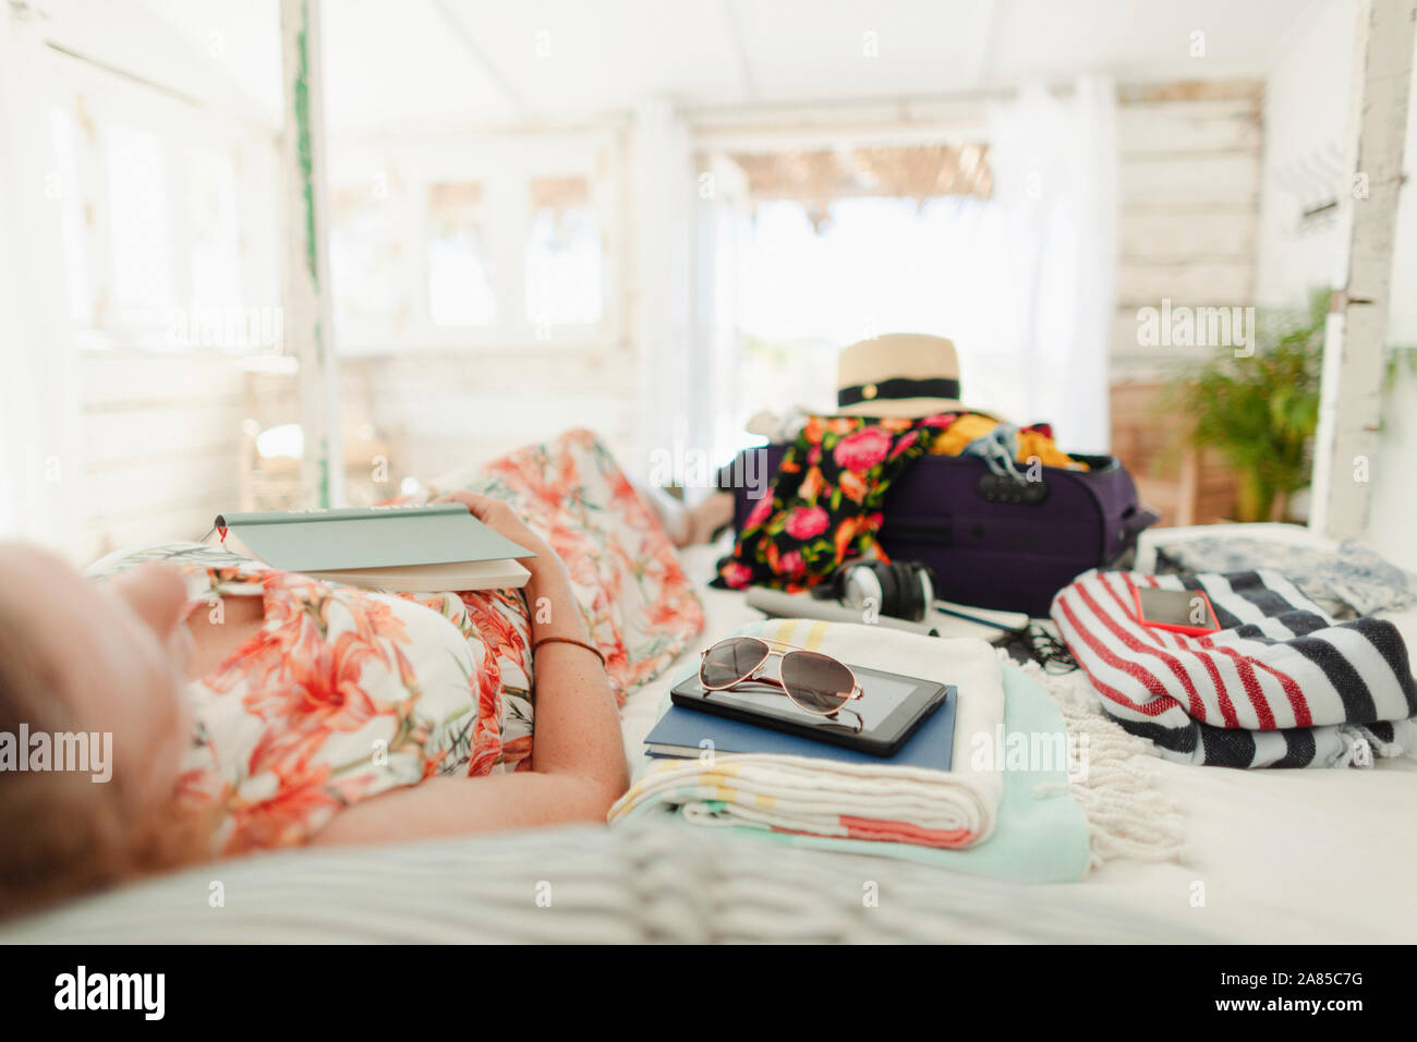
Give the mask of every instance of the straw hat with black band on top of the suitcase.
[{"label": "straw hat with black band on top of the suitcase", "polygon": [[843,347],[836,362],[836,404],[839,415],[911,420],[964,408],[954,342],[887,333]]}]

